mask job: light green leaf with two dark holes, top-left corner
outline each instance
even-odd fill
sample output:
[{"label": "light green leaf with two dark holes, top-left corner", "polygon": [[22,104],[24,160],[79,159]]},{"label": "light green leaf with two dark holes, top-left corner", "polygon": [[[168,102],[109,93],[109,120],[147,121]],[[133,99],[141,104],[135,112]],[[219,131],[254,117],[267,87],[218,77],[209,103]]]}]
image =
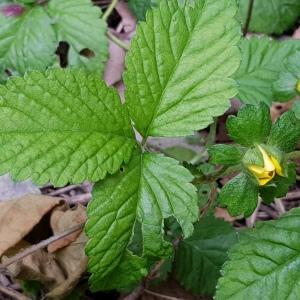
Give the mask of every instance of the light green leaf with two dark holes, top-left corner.
[{"label": "light green leaf with two dark holes, top-left corner", "polygon": [[[0,71],[24,74],[57,63],[60,41],[70,44],[68,63],[103,71],[107,59],[106,24],[90,0],[50,0],[48,6],[26,6],[20,16],[0,12]],[[90,51],[90,56],[84,56]]]}]

